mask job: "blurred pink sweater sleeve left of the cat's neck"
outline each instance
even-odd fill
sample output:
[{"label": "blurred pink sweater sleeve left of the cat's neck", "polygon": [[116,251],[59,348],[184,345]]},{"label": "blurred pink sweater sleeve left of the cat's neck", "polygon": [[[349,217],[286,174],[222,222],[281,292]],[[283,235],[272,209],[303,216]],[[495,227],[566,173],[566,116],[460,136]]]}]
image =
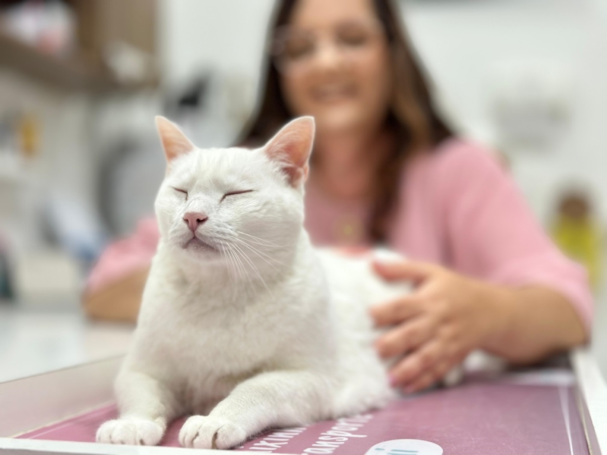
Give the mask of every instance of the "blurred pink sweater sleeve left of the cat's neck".
[{"label": "blurred pink sweater sleeve left of the cat's neck", "polygon": [[111,244],[103,252],[89,275],[87,292],[97,291],[113,281],[148,267],[159,238],[155,218],[141,220],[131,237]]}]

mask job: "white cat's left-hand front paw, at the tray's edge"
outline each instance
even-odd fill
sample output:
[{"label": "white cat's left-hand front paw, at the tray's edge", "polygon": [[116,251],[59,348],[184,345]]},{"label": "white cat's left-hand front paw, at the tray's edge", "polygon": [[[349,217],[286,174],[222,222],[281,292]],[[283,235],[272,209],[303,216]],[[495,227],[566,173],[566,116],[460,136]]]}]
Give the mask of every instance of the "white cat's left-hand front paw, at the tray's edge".
[{"label": "white cat's left-hand front paw, at the tray's edge", "polygon": [[163,435],[163,426],[152,420],[126,417],[101,425],[95,440],[106,444],[157,445]]}]

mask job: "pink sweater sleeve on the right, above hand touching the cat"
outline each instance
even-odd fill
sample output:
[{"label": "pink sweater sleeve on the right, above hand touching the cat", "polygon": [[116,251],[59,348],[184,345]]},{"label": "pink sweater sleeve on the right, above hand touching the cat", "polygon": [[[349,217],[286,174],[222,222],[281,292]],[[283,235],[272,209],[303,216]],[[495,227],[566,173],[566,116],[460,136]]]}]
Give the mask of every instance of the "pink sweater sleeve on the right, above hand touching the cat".
[{"label": "pink sweater sleeve on the right, above hand touching the cat", "polygon": [[497,160],[460,143],[441,161],[440,211],[453,268],[495,283],[548,286],[568,297],[590,328],[585,269],[552,243]]}]

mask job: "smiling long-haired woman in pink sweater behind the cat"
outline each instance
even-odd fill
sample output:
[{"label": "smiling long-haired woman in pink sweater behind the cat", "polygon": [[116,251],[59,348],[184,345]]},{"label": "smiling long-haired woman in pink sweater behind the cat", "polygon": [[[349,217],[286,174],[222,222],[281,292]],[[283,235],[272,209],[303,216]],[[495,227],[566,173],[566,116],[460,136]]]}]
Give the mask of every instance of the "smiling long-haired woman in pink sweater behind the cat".
[{"label": "smiling long-haired woman in pink sweater behind the cat", "polygon": [[[392,327],[376,348],[400,357],[395,385],[426,388],[472,349],[531,363],[588,340],[583,270],[550,243],[489,153],[443,123],[387,0],[283,1],[271,37],[260,110],[242,142],[262,144],[290,118],[313,115],[313,241],[385,243],[412,258],[375,265],[417,285],[371,311]],[[101,258],[90,314],[109,315],[115,299],[121,317],[135,318],[124,301],[138,302],[157,235],[147,221]]]}]

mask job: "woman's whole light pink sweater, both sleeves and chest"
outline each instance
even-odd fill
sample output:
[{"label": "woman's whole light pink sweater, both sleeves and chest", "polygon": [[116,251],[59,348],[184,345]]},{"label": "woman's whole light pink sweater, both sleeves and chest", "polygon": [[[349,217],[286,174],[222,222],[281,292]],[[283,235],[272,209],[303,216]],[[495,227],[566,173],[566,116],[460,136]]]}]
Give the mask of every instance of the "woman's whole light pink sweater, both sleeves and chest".
[{"label": "woman's whole light pink sweater, both sleeves and chest", "polygon": [[[569,298],[586,326],[593,304],[585,269],[565,258],[529,211],[514,181],[482,147],[447,140],[404,170],[388,246],[414,260],[504,285],[540,284]],[[306,227],[314,243],[367,243],[365,203],[342,203],[308,185]],[[154,219],[112,244],[89,290],[149,265],[158,243]]]}]

